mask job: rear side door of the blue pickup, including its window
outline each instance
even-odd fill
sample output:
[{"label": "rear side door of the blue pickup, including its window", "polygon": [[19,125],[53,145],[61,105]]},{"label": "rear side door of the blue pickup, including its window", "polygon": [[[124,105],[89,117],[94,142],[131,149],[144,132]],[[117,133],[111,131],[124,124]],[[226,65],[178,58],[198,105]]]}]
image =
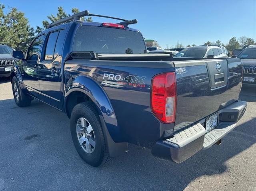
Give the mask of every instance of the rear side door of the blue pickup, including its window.
[{"label": "rear side door of the blue pickup, including its window", "polygon": [[65,30],[55,30],[48,33],[46,45],[42,49],[42,58],[38,64],[40,99],[60,110],[63,110],[60,63],[65,35]]}]

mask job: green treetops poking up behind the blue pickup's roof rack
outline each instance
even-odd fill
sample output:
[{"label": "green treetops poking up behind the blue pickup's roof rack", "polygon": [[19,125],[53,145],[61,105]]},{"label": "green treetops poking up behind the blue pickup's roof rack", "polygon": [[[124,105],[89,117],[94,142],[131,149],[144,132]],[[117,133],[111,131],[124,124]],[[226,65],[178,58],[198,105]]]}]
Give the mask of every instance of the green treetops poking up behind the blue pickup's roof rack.
[{"label": "green treetops poking up behind the blue pickup's roof rack", "polygon": [[[71,12],[72,12],[72,14],[76,14],[76,13],[79,12],[79,10],[78,10],[78,8],[72,8]],[[66,12],[64,12],[63,8],[60,6],[60,7],[58,7],[58,13],[57,13],[56,16],[51,14],[50,16],[47,16],[47,18],[53,23],[53,22],[56,22],[56,21],[58,21],[60,19],[63,19],[63,18],[69,17],[69,16],[71,16],[71,15],[70,14],[66,14]],[[80,18],[80,20],[84,21],[85,18],[82,17],[82,18]],[[86,21],[87,22],[92,22],[92,17],[86,18]],[[50,22],[48,22],[47,20],[43,20],[42,24],[43,24],[43,28],[38,27],[38,26],[36,27],[36,32],[37,33],[40,33],[44,29],[46,29],[47,26],[50,24]]]}]

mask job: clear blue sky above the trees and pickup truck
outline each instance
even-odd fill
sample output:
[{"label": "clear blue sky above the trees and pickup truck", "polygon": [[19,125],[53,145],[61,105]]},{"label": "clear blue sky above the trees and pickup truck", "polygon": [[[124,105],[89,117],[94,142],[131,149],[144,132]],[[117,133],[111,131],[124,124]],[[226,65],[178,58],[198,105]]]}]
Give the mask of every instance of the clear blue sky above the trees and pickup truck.
[{"label": "clear blue sky above the trees and pickup truck", "polygon": [[[138,19],[131,27],[144,37],[154,39],[162,47],[172,47],[179,40],[184,46],[220,40],[228,43],[231,37],[256,39],[256,0],[215,1],[82,1],[82,0],[0,0],[8,7],[25,13],[32,27],[42,26],[46,16],[56,14],[58,6],[67,13],[73,7],[124,19]],[[94,22],[114,22],[93,17]]]}]

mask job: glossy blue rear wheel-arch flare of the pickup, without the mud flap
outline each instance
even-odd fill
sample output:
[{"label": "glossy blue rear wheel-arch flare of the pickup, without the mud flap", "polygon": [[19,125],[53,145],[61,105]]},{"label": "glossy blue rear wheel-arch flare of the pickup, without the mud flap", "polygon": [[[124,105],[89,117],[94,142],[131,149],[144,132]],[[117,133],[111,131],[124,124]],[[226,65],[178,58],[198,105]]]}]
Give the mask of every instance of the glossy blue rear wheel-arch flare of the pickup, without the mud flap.
[{"label": "glossy blue rear wheel-arch flare of the pickup, without the mud flap", "polygon": [[123,142],[122,133],[118,127],[114,109],[106,92],[89,76],[77,75],[68,80],[65,87],[65,110],[68,95],[73,91],[81,91],[86,94],[96,105],[99,114],[103,117],[106,128],[114,142]]}]

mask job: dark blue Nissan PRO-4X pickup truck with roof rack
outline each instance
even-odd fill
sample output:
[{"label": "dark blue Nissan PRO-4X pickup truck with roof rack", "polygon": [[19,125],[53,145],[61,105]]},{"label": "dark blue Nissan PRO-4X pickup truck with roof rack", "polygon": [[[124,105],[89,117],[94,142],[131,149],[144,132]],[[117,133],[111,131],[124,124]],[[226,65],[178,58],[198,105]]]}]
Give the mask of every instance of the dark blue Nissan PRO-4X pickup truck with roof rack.
[{"label": "dark blue Nissan PRO-4X pickup truck with roof rack", "polygon": [[16,104],[35,98],[65,112],[78,154],[94,167],[128,143],[181,163],[220,144],[246,110],[240,58],[148,54],[140,31],[128,27],[136,22],[84,11],[50,24],[24,54],[13,52]]}]

